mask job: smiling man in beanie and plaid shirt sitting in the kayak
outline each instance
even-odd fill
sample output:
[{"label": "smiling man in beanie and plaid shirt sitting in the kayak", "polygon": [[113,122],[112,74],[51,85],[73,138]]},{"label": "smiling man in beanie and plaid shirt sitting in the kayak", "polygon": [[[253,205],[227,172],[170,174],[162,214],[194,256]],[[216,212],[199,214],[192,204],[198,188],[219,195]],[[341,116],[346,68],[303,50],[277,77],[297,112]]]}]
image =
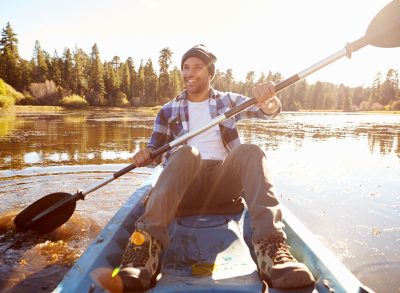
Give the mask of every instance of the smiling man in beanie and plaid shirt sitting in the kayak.
[{"label": "smiling man in beanie and plaid shirt sitting in the kayak", "polygon": [[[197,45],[182,57],[186,89],[165,104],[157,115],[147,148],[133,157],[140,167],[151,162],[150,154],[188,131],[244,102],[246,97],[214,90],[216,57]],[[262,276],[272,287],[298,288],[314,284],[307,267],[296,261],[285,243],[282,213],[274,195],[263,151],[241,144],[236,121],[267,118],[280,113],[274,84],[252,90],[259,102],[221,122],[168,154],[165,168],[136,223],[122,257],[120,276],[127,289],[146,289],[160,269],[159,256],[168,246],[168,225],[175,216],[201,213],[235,213],[247,204],[252,220],[252,242]]]}]

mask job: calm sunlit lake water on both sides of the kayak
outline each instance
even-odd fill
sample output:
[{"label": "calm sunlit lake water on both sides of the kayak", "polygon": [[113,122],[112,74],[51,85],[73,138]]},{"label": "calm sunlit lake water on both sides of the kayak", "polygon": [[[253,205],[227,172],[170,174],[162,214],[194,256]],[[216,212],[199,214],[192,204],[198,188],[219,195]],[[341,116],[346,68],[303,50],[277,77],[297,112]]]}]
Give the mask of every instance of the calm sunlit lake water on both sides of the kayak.
[{"label": "calm sunlit lake water on both sides of the kayak", "polygon": [[[51,291],[150,171],[89,194],[50,235],[16,233],[12,217],[122,169],[153,120],[132,109],[0,112],[0,289]],[[265,150],[282,203],[364,284],[400,291],[400,115],[283,113],[241,123],[240,135]]]}]

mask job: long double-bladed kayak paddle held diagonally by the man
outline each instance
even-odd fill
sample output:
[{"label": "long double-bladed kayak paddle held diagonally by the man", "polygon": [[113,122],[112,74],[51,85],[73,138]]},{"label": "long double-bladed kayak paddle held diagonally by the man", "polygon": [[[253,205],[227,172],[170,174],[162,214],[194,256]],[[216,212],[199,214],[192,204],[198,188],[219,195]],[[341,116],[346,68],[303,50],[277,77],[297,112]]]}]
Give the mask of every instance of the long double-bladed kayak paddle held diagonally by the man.
[{"label": "long double-bladed kayak paddle held diagonally by the man", "polygon": [[[348,43],[344,49],[327,57],[319,63],[316,63],[315,65],[299,72],[298,74],[295,74],[280,82],[275,86],[275,92],[283,90],[289,85],[292,85],[293,83],[303,79],[304,77],[325,67],[341,57],[347,56],[350,58],[353,52],[363,48],[368,44],[383,48],[400,46],[400,0],[394,0],[386,5],[371,21],[363,37],[352,43]],[[247,100],[237,107],[227,111],[225,114],[221,114],[220,116],[214,118],[202,128],[189,132],[155,150],[152,152],[151,158],[156,158],[164,152],[181,145],[188,139],[206,131],[207,129],[240,113],[244,109],[256,103],[257,100],[255,98]],[[114,173],[111,177],[102,180],[92,188],[89,188],[88,190],[77,191],[74,195],[64,192],[46,195],[21,211],[14,219],[14,223],[18,230],[25,231],[31,229],[42,233],[48,233],[68,221],[75,210],[76,201],[84,199],[85,196],[90,192],[99,189],[100,187],[108,184],[109,182],[135,168],[136,166],[131,164]]]}]

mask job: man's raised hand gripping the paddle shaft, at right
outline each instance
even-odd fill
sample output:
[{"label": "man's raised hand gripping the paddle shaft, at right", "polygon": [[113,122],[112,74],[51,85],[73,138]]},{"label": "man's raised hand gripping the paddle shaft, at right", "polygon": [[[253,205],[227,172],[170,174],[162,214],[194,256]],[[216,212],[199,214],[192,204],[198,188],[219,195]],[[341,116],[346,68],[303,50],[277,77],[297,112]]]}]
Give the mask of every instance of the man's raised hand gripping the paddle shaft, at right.
[{"label": "man's raised hand gripping the paddle shaft, at right", "polygon": [[256,106],[267,115],[275,115],[281,107],[281,101],[275,96],[275,84],[271,81],[263,82],[252,89],[256,98]]}]

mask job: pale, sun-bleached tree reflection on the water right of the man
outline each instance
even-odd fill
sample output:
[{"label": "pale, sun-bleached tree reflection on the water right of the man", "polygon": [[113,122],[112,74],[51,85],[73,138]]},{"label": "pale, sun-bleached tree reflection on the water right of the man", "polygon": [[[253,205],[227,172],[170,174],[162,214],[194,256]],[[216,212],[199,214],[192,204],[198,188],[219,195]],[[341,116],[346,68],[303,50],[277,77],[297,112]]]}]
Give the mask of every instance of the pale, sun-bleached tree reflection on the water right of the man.
[{"label": "pale, sun-bleached tree reflection on the water right of the man", "polygon": [[[347,113],[285,113],[271,121],[242,122],[245,141],[265,149],[287,142],[301,149],[304,141],[367,139],[371,153],[400,157],[400,116]],[[266,140],[266,138],[268,138]]]}]

